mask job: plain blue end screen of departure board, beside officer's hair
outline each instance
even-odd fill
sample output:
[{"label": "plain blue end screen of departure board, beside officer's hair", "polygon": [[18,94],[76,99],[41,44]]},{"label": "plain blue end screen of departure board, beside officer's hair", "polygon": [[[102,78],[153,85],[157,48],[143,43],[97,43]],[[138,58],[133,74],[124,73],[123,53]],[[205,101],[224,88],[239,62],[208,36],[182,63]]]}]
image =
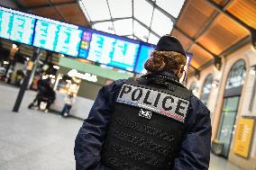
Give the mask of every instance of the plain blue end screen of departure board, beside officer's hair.
[{"label": "plain blue end screen of departure board, beside officer's hair", "polygon": [[134,72],[136,73],[144,73],[144,64],[151,57],[151,52],[155,49],[152,45],[141,45],[140,52],[138,54],[138,59],[136,62],[136,66],[134,67]]}]

